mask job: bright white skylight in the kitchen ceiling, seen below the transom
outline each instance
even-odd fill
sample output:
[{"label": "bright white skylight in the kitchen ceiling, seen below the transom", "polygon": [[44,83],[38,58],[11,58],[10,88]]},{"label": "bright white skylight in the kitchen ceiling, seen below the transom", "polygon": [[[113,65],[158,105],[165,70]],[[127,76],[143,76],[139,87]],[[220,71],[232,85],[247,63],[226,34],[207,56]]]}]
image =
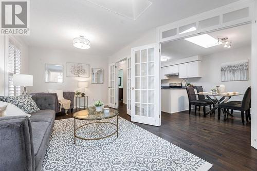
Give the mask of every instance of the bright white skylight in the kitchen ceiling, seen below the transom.
[{"label": "bright white skylight in the kitchen ceiling, seen below the transom", "polygon": [[194,44],[199,45],[204,48],[209,48],[209,47],[213,47],[213,46],[222,44],[222,42],[218,42],[217,39],[210,36],[209,34],[196,35],[193,37],[188,37],[184,40],[189,41],[191,43],[194,43]]}]

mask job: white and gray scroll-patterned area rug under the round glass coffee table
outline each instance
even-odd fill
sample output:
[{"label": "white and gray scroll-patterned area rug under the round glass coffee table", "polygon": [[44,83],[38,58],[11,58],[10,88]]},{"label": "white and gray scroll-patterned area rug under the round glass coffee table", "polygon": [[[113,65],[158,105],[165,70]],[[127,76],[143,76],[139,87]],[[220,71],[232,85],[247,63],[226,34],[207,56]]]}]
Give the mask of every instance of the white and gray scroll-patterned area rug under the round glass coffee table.
[{"label": "white and gray scroll-patterned area rug under the round glass coffee table", "polygon": [[[116,123],[116,118],[108,119]],[[86,121],[76,120],[76,126]],[[89,138],[115,131],[112,124],[79,129]],[[42,170],[208,170],[212,164],[119,117],[119,132],[102,140],[76,139],[74,119],[57,120]]]}]

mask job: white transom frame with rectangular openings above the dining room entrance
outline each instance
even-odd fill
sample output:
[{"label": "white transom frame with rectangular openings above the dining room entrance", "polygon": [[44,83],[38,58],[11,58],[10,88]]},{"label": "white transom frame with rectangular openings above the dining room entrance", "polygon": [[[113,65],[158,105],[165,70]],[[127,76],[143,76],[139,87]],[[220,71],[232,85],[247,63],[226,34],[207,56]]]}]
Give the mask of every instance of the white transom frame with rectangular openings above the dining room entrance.
[{"label": "white transom frame with rectangular openings above the dining room entrance", "polygon": [[[190,16],[183,20],[179,20],[179,21],[167,24],[167,25],[157,27],[156,28],[157,43],[167,42],[167,41],[171,41],[171,40],[180,39],[181,37],[187,37],[187,36],[191,36],[191,35],[195,35],[195,34],[201,34],[201,33],[209,32],[209,31],[213,31],[213,30],[224,29],[224,28],[228,28],[228,27],[232,27],[232,26],[236,26],[236,25],[240,25],[240,24],[249,23],[252,21],[252,17],[254,15],[254,10],[253,10],[254,1],[255,0],[237,1],[235,3],[229,4],[229,5],[226,5],[223,7],[219,7],[219,8],[207,11],[207,12],[203,12],[203,13],[200,13],[200,14],[197,14],[194,16]],[[244,10],[244,9],[246,9],[246,10]],[[231,21],[223,21],[223,16],[225,14],[228,14],[230,12],[236,12],[236,11],[240,12],[240,10],[244,10],[243,14],[245,16],[239,17],[239,18],[237,18],[235,16],[234,19],[231,18]],[[238,15],[240,16],[240,14],[238,14]],[[218,24],[210,25],[205,28],[199,28],[199,22],[208,20],[213,17],[219,17]],[[195,24],[195,27],[196,27],[195,31],[190,31],[190,32],[186,32],[183,34],[181,34],[181,33],[179,34],[179,27],[187,26],[190,24]],[[174,31],[174,33],[171,36],[162,38],[163,32],[173,30],[173,29],[176,29],[176,31]]]}]

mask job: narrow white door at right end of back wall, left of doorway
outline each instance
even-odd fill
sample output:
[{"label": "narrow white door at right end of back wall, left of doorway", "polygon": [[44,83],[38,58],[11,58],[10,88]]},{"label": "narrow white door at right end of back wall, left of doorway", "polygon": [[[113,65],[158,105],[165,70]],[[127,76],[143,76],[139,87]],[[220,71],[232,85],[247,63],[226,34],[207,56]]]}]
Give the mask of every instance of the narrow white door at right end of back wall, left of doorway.
[{"label": "narrow white door at right end of back wall, left of doorway", "polygon": [[118,64],[109,64],[108,82],[108,103],[109,107],[118,108]]}]

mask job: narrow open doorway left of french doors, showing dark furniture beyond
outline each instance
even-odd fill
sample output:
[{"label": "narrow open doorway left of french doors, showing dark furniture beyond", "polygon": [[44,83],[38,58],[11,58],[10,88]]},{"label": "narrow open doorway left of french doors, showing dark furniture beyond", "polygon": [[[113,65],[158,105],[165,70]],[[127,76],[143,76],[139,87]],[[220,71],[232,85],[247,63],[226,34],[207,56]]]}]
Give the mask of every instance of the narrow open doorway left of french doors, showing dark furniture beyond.
[{"label": "narrow open doorway left of french doors, showing dark furniture beyond", "polygon": [[118,62],[118,100],[119,105],[126,104],[126,90],[127,90],[127,61],[123,59]]}]

